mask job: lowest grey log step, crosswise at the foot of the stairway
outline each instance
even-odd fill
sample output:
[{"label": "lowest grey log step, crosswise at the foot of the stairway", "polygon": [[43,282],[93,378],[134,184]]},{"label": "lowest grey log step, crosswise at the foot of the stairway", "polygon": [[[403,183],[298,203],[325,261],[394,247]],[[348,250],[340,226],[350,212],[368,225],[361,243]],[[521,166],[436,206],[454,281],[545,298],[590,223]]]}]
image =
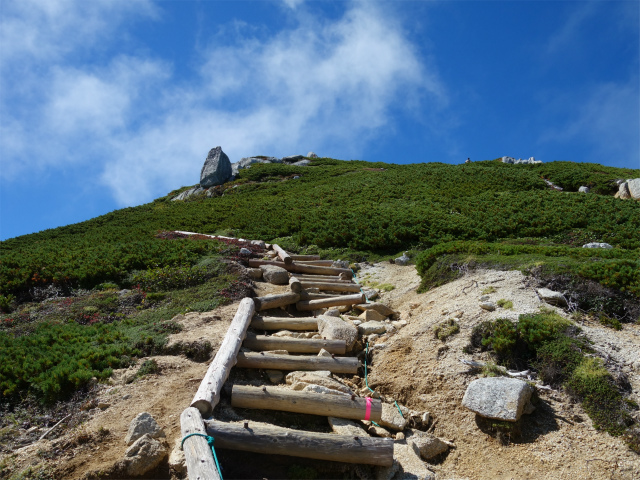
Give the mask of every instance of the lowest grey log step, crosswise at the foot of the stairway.
[{"label": "lowest grey log step, crosswise at the foot of the stairway", "polygon": [[206,422],[216,446],[245,452],[292,457],[315,458],[335,462],[390,466],[393,463],[393,440],[366,435],[335,435],[305,432],[282,427]]}]

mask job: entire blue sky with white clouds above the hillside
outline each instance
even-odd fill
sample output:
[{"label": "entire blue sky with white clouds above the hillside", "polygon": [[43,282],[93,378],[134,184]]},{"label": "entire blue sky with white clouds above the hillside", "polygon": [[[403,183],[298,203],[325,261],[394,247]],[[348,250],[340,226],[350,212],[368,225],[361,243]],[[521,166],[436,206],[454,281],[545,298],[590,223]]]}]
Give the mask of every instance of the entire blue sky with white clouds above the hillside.
[{"label": "entire blue sky with white clouds above the hillside", "polygon": [[314,151],[640,168],[640,3],[0,0],[0,239]]}]

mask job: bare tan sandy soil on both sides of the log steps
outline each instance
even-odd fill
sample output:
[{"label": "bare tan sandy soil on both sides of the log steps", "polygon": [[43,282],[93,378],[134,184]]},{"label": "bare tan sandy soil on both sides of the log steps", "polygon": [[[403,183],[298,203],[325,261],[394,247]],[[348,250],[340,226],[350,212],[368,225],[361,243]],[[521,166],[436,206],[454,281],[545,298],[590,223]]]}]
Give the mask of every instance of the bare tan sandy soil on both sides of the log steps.
[{"label": "bare tan sandy soil on both sides of the log steps", "polygon": [[[401,312],[407,326],[377,340],[369,382],[407,407],[430,412],[436,422],[433,433],[456,444],[444,458],[429,464],[438,479],[640,478],[640,457],[621,439],[595,430],[580,405],[571,403],[562,392],[542,391],[536,411],[525,416],[522,437],[506,446],[484,433],[475,414],[461,406],[467,385],[479,377],[466,373],[467,367],[459,360],[472,358],[463,353],[472,328],[484,320],[516,319],[521,313],[537,311],[542,303],[530,279],[515,271],[478,271],[418,294],[419,277],[412,266],[364,266],[358,276],[395,287],[382,293],[381,301]],[[510,300],[513,309],[482,310],[479,297],[487,287],[495,289],[490,300]],[[283,288],[258,283],[257,291],[264,295]],[[215,354],[236,309],[237,303],[187,314],[180,319],[184,330],[171,341],[206,339]],[[436,339],[434,325],[453,316],[460,318],[460,332],[446,342]],[[627,374],[632,397],[640,401],[640,326],[625,324],[618,332],[599,324],[582,328],[596,348]],[[473,359],[486,360],[484,355]],[[143,411],[164,427],[169,448],[173,448],[180,437],[180,413],[189,405],[208,362],[177,356],[155,359],[160,374],[126,384],[118,379],[127,372],[117,372],[113,385],[100,387],[99,399],[108,405],[104,410],[91,410],[89,420],[75,431],[25,447],[11,461],[25,466],[42,463],[46,452],[57,450],[58,454],[45,461],[57,466],[60,478],[87,478],[90,472],[108,470],[122,458],[129,423]],[[167,462],[145,478],[171,478]]]}]

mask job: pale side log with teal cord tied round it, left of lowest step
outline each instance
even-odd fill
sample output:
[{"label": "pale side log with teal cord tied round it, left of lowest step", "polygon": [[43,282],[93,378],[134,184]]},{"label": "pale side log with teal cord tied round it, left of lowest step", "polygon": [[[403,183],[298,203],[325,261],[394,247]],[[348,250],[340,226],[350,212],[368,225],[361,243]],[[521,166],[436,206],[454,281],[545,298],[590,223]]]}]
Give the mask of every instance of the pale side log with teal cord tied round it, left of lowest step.
[{"label": "pale side log with teal cord tied round it, left of lowest step", "polygon": [[[200,411],[197,408],[187,407],[182,412],[182,415],[180,415],[180,428],[182,438],[191,433],[208,435]],[[184,441],[182,449],[185,463],[187,464],[189,480],[220,480],[216,462],[213,459],[211,447],[206,438],[200,435],[189,437]]]}]

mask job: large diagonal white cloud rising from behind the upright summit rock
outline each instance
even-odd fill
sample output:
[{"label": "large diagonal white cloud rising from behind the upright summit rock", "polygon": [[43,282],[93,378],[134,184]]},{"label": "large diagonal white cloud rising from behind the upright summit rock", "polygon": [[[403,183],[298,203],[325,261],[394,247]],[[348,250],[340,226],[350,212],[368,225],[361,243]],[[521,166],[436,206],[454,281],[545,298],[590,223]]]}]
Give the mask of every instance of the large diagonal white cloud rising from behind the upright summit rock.
[{"label": "large diagonal white cloud rising from behind the upright summit rock", "polygon": [[389,12],[358,5],[336,22],[311,21],[267,41],[211,47],[200,83],[174,92],[162,123],[123,142],[107,165],[103,180],[119,201],[196,183],[217,145],[232,161],[309,149],[356,154],[390,125],[392,108],[425,94],[436,108],[446,102],[437,75]]}]

